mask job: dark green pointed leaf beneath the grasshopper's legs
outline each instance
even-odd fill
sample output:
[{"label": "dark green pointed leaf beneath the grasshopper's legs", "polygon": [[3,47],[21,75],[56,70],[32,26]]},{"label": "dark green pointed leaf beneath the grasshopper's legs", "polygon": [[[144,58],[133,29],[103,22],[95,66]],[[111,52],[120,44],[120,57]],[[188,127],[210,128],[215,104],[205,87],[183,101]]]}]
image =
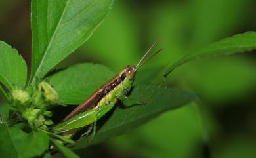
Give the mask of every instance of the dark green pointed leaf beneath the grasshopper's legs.
[{"label": "dark green pointed leaf beneath the grasshopper's legs", "polygon": [[[188,104],[197,97],[188,92],[172,90],[161,85],[140,85],[131,91],[130,100],[126,100],[124,105],[117,104],[116,109],[112,113],[102,117],[103,123],[96,133],[95,140],[91,143],[86,140],[77,142],[74,149],[96,144],[113,136],[123,134],[128,130],[139,127],[142,124],[154,119],[161,113],[179,108]],[[135,104],[135,100],[140,102],[148,102],[144,105]],[[111,113],[111,112],[110,112]]]}]

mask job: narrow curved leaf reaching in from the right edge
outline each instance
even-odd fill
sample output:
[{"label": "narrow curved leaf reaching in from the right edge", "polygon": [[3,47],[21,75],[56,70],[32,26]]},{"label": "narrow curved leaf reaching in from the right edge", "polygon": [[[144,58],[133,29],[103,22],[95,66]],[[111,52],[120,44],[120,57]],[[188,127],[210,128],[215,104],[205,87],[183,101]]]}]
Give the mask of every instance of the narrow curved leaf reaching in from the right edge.
[{"label": "narrow curved leaf reaching in from the right edge", "polygon": [[188,54],[181,58],[181,60],[175,62],[164,74],[166,78],[171,71],[173,71],[178,66],[191,60],[196,60],[205,57],[215,57],[215,56],[229,56],[236,53],[247,52],[256,49],[256,33],[247,32],[243,34],[234,35],[228,37],[219,42],[212,43],[207,47],[199,50],[198,52]]}]

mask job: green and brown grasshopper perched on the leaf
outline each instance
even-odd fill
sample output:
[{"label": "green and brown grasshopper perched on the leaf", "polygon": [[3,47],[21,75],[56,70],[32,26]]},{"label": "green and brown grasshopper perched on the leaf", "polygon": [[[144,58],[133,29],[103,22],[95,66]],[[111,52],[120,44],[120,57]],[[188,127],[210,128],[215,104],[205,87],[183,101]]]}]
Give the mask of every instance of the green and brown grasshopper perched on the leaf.
[{"label": "green and brown grasshopper perched on the leaf", "polygon": [[98,119],[108,113],[118,100],[125,100],[128,98],[126,95],[127,92],[131,90],[137,70],[162,50],[158,50],[149,58],[144,60],[156,45],[157,41],[158,39],[153,43],[150,49],[148,49],[144,56],[142,56],[136,66],[128,65],[121,69],[114,78],[110,79],[110,81],[95,90],[91,96],[79,104],[79,106],[67,115],[62,122],[51,128],[51,132],[55,134],[62,134],[62,136],[67,138],[72,138],[78,130],[87,125],[91,125],[85,134],[89,134],[93,128],[92,138],[94,138]]}]

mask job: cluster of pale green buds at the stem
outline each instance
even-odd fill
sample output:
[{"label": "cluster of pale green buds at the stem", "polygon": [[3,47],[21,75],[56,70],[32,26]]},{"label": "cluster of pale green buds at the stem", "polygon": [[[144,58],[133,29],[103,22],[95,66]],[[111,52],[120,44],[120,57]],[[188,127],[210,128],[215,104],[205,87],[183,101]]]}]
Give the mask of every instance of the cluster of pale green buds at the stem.
[{"label": "cluster of pale green buds at the stem", "polygon": [[47,119],[53,113],[48,109],[58,104],[58,93],[45,81],[36,83],[28,90],[13,90],[12,109],[21,114],[32,128],[47,130],[47,126],[53,125],[53,121]]}]

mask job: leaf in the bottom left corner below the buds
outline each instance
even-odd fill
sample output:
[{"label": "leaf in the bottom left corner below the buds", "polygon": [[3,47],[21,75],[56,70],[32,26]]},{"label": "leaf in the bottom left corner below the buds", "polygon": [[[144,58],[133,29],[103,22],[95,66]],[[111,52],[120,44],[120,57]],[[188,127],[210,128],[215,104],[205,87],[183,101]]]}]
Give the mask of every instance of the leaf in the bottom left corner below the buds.
[{"label": "leaf in the bottom left corner below the buds", "polygon": [[[35,157],[49,147],[49,138],[43,132],[26,134],[17,127],[0,124],[1,157]],[[36,148],[35,148],[36,147]]]}]

